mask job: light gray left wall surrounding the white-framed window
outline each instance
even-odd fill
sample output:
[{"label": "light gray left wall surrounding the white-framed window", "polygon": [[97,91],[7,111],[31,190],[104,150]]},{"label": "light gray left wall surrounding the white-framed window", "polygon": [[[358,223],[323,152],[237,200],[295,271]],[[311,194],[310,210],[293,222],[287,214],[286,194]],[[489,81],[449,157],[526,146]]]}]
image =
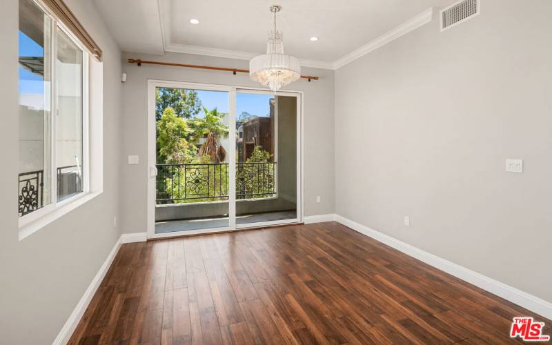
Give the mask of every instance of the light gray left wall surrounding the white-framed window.
[{"label": "light gray left wall surrounding the white-framed window", "polygon": [[[121,53],[92,1],[66,0],[104,52],[104,192],[18,240],[18,1],[0,11],[0,343],[51,344],[119,238]],[[11,148],[11,149],[8,149]],[[120,218],[120,217],[119,217]]]}]

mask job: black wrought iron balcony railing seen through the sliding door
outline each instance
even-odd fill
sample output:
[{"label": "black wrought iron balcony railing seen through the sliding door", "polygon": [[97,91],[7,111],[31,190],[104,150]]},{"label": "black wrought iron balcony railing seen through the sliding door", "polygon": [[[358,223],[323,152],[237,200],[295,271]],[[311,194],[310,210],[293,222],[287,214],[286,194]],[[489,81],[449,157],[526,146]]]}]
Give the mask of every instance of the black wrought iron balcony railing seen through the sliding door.
[{"label": "black wrought iron balcony railing seen through the sliding door", "polygon": [[[275,162],[237,163],[236,199],[276,195]],[[227,163],[157,164],[156,204],[228,200]]]}]

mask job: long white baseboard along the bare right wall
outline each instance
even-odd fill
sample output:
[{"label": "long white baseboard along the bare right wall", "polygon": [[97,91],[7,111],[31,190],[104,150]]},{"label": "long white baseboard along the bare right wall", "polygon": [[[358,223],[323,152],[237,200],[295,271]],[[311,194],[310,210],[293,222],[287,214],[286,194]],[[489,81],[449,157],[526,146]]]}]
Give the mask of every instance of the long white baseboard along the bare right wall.
[{"label": "long white baseboard along the bare right wall", "polygon": [[547,302],[544,299],[540,299],[539,297],[535,297],[529,293],[525,293],[522,290],[518,290],[517,288],[513,288],[512,286],[498,282],[495,279],[491,279],[480,273],[474,272],[473,270],[465,268],[464,266],[449,262],[442,257],[437,257],[436,255],[428,253],[420,248],[411,246],[410,244],[406,244],[405,242],[380,233],[379,231],[368,228],[367,226],[359,224],[356,221],[352,221],[351,219],[336,215],[335,221],[339,221],[339,223],[343,224],[344,226],[348,226],[358,233],[362,233],[363,235],[372,237],[379,242],[400,250],[406,255],[415,257],[416,259],[425,262],[428,265],[443,270],[444,272],[460,278],[465,282],[469,282],[470,284],[480,287],[483,290],[489,291],[489,293],[493,293],[494,295],[502,297],[512,303],[517,304],[518,306],[529,309],[530,311],[542,315],[547,319],[552,319],[552,303]]}]

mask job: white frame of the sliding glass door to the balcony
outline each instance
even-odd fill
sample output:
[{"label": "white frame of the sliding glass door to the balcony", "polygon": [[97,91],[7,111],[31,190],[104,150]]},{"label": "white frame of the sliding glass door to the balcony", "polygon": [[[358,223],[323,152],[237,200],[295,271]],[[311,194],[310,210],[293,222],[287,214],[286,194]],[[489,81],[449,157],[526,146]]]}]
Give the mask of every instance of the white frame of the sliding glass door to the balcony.
[{"label": "white frame of the sliding glass door to the balcony", "polygon": [[[297,97],[297,218],[285,219],[280,221],[264,221],[254,224],[236,224],[236,131],[230,130],[228,137],[230,140],[230,148],[228,153],[230,159],[228,161],[228,226],[220,228],[207,228],[199,230],[175,231],[172,233],[155,233],[155,181],[157,176],[156,157],[156,132],[155,132],[155,90],[156,88],[181,88],[188,90],[206,90],[206,91],[222,91],[228,92],[228,110],[230,116],[229,126],[235,128],[236,121],[236,93],[260,93],[276,96],[292,96]],[[147,116],[148,116],[148,159],[146,166],[147,183],[147,210],[146,210],[146,228],[148,239],[157,239],[164,237],[178,237],[183,235],[199,235],[207,233],[221,233],[226,231],[244,230],[246,228],[257,228],[259,226],[274,226],[279,224],[293,224],[303,221],[304,210],[304,172],[303,172],[303,92],[302,91],[278,91],[273,92],[264,88],[250,88],[246,86],[228,86],[208,83],[193,83],[187,81],[166,81],[159,79],[148,79],[147,85]]]}]

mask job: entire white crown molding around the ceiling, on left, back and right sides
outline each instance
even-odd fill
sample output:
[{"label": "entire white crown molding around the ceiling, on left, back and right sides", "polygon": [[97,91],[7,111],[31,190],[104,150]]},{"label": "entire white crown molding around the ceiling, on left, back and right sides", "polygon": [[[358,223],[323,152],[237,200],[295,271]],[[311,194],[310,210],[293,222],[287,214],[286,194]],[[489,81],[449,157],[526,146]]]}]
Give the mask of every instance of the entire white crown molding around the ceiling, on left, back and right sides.
[{"label": "entire white crown molding around the ceiling, on left, back and right sides", "polygon": [[[168,23],[167,14],[165,13],[161,4],[159,4],[159,14],[160,14],[159,17],[161,18],[161,21],[164,23]],[[299,62],[303,67],[322,68],[326,70],[337,70],[337,68],[341,68],[346,64],[351,63],[356,59],[359,59],[360,57],[367,55],[370,52],[373,52],[377,48],[385,46],[387,43],[403,36],[404,34],[407,34],[412,30],[420,28],[420,26],[423,26],[424,24],[429,23],[431,19],[433,19],[433,8],[428,8],[424,12],[417,14],[417,16],[411,19],[408,19],[408,21],[405,21],[404,23],[402,23],[400,26],[397,26],[393,30],[390,30],[385,34],[382,34],[382,36],[377,37],[376,39],[373,39],[372,41],[364,44],[364,46],[361,46],[360,48],[353,50],[352,52],[348,53],[347,55],[344,55],[343,57],[335,61],[299,59]],[[172,43],[170,42],[170,39],[169,39],[170,32],[168,32],[168,30],[170,30],[170,28],[167,25],[163,25],[161,23],[161,32],[164,36],[162,37],[162,39],[164,41],[164,48],[166,52],[179,52],[183,54],[204,55],[209,57],[224,57],[226,59],[238,59],[238,60],[250,60],[250,59],[253,59],[253,57],[256,57],[257,55],[259,55],[259,53],[257,52],[242,52],[239,50],[227,50],[227,49],[220,49],[220,48],[210,48],[210,47],[203,47],[203,46],[191,46],[188,44]]]}]

